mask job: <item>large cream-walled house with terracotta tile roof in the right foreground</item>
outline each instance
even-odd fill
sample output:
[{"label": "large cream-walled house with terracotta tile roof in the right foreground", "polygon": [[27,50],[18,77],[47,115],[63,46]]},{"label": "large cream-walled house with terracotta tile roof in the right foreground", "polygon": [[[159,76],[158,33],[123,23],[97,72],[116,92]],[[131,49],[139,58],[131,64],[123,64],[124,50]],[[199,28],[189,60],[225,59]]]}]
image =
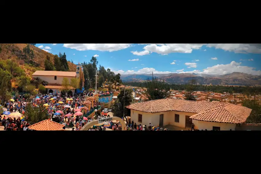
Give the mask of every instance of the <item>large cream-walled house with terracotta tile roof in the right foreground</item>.
[{"label": "large cream-walled house with terracotta tile roof in the right foreground", "polygon": [[173,125],[200,130],[235,130],[246,121],[251,109],[230,103],[200,102],[178,99],[158,99],[126,106],[131,109],[131,120],[136,124]]}]

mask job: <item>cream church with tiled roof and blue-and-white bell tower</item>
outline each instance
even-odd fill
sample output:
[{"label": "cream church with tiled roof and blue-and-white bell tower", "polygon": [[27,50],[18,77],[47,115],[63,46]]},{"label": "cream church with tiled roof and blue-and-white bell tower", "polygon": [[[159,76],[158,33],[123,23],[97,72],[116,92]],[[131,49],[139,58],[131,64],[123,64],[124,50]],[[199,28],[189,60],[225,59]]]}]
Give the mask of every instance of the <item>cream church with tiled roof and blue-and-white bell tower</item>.
[{"label": "cream church with tiled roof and blue-and-white bell tower", "polygon": [[48,85],[45,86],[47,89],[47,93],[53,93],[53,94],[64,94],[64,95],[73,95],[73,93],[77,92],[80,93],[84,89],[84,83],[82,82],[80,89],[75,89],[72,86],[69,86],[68,92],[64,91],[62,84],[62,81],[64,78],[67,78],[69,80],[69,83],[71,82],[71,79],[73,78],[80,78],[80,71],[83,73],[83,67],[80,64],[80,62],[76,65],[76,72],[66,72],[66,71],[35,71],[35,73],[32,74],[32,78],[38,78],[43,81],[48,82]]}]

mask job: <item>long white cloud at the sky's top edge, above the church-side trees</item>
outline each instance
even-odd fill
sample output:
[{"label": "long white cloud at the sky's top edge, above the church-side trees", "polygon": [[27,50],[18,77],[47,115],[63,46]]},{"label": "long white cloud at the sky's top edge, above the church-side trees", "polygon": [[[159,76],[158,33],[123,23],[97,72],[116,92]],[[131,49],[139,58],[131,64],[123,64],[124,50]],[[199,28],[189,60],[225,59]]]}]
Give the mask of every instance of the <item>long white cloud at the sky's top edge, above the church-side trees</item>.
[{"label": "long white cloud at the sky's top edge, above the church-side trees", "polygon": [[64,47],[79,51],[98,50],[98,51],[118,51],[130,47],[131,44],[64,44]]}]

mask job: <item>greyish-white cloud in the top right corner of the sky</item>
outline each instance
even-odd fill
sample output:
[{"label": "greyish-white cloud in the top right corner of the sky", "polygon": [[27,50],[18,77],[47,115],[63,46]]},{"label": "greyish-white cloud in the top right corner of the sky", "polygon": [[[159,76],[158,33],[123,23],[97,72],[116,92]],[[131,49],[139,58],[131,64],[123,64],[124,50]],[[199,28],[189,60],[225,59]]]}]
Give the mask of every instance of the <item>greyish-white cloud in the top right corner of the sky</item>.
[{"label": "greyish-white cloud in the top right corner of the sky", "polygon": [[207,44],[207,47],[215,47],[235,53],[261,53],[261,44]]}]

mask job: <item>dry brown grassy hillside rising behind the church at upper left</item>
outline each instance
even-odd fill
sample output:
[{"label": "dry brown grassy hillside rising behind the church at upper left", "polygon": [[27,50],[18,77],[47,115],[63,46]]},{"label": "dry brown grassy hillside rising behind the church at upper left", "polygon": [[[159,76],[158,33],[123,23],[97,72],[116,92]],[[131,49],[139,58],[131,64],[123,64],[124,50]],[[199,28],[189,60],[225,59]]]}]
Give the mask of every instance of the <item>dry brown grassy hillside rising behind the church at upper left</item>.
[{"label": "dry brown grassy hillside rising behind the church at upper left", "polygon": [[[33,50],[32,59],[28,60],[23,55],[23,49],[27,44],[0,44],[0,60],[11,59],[16,62],[26,74],[30,77],[36,70],[44,70],[44,61],[46,57],[50,57],[50,61],[54,63],[54,55],[46,52],[36,46],[30,45],[30,49]],[[28,65],[28,66],[27,66]],[[75,71],[76,65],[68,62],[69,71]]]}]

